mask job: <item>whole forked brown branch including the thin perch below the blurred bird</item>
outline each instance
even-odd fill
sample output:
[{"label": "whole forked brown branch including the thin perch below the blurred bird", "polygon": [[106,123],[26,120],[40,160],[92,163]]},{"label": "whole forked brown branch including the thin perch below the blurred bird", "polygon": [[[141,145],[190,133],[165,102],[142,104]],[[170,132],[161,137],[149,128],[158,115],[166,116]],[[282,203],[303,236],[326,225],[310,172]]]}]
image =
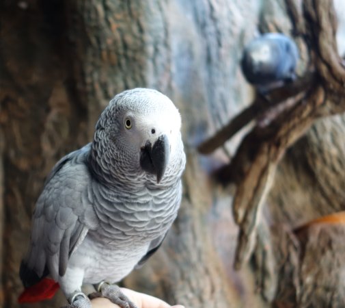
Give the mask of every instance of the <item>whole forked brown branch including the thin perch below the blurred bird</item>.
[{"label": "whole forked brown branch including the thin perch below the blurred bird", "polygon": [[[225,183],[235,181],[237,184],[233,203],[234,218],[240,227],[236,268],[240,268],[251,256],[256,244],[261,207],[271,188],[277,164],[286,149],[320,116],[345,112],[345,68],[337,55],[333,3],[331,0],[306,0],[303,2],[303,14],[305,28],[299,23],[298,29],[305,29],[303,37],[309,46],[312,59],[310,66],[316,68],[315,78],[309,79],[307,86],[301,86],[299,95],[281,95],[281,100],[287,101],[290,97],[292,103],[288,104],[289,107],[275,115],[267,126],[256,125],[243,139],[232,162],[218,172]],[[296,8],[292,8],[290,17],[299,18]],[[275,90],[273,97],[279,92],[280,89]],[[281,100],[277,97],[274,104]],[[251,119],[248,116],[249,110],[255,110],[254,105],[199,146],[199,150],[209,153],[233,136],[236,129],[240,129]],[[238,124],[241,116],[244,119],[242,126]]]}]

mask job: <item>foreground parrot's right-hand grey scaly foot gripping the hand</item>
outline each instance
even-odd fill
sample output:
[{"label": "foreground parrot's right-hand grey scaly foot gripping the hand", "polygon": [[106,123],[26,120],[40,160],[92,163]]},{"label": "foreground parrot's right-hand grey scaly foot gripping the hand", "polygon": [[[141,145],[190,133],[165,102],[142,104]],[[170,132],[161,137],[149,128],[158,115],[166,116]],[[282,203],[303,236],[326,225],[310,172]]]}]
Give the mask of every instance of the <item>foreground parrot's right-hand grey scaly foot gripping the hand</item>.
[{"label": "foreground parrot's right-hand grey scaly foot gripping the hand", "polygon": [[105,281],[98,283],[95,286],[98,292],[89,294],[89,298],[96,297],[108,298],[112,303],[120,306],[121,308],[138,308],[126,295],[124,295],[118,285],[112,285]]}]

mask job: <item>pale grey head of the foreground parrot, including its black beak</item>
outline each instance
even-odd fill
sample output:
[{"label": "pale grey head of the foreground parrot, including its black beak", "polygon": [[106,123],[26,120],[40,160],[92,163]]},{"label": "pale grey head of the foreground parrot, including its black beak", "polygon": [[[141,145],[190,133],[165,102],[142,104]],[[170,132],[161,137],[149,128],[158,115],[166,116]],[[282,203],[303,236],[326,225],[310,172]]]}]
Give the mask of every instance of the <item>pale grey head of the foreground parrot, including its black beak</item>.
[{"label": "pale grey head of the foreground parrot, including its black beak", "polygon": [[[153,175],[160,183],[180,151],[181,117],[174,103],[161,92],[146,88],[116,95],[100,115],[93,148],[103,172],[135,180]],[[94,151],[95,152],[95,151]]]}]

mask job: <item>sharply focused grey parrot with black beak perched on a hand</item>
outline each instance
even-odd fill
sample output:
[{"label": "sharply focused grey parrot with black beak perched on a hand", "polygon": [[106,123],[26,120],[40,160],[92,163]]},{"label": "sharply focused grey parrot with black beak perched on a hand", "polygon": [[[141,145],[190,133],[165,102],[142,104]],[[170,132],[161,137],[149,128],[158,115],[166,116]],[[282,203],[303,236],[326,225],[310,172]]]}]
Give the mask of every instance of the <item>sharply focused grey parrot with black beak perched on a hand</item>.
[{"label": "sharply focused grey parrot with black beak perched on a hand", "polygon": [[86,283],[135,307],[113,283],[156,251],[176,218],[186,160],[180,126],[178,110],[156,90],[126,90],[110,101],[94,140],[57,162],[44,183],[20,266],[25,287],[49,275],[67,307],[91,307]]}]

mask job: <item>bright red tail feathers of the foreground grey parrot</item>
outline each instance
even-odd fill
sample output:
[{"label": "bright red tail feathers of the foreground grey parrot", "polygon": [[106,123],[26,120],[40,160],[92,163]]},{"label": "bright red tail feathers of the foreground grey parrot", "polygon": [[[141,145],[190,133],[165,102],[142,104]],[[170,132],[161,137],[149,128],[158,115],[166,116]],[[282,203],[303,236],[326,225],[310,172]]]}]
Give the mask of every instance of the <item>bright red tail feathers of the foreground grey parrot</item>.
[{"label": "bright red tail feathers of the foreground grey parrot", "polygon": [[44,278],[36,285],[24,290],[18,297],[18,303],[35,303],[52,298],[59,289],[59,283],[53,279]]}]

